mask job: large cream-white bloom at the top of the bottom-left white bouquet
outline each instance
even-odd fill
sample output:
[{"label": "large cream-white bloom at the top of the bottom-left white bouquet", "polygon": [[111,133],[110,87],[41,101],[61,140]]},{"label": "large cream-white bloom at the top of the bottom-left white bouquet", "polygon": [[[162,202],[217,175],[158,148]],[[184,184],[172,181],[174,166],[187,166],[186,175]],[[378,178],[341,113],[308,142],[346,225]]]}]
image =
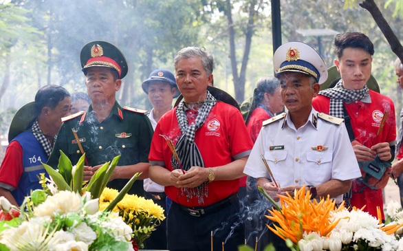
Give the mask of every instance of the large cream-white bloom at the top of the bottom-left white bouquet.
[{"label": "large cream-white bloom at the top of the bottom-left white bouquet", "polygon": [[47,199],[34,208],[34,215],[36,217],[47,216],[53,217],[58,212],[63,214],[67,212],[78,212],[83,202],[80,195],[71,191],[60,191],[56,195],[49,196]]}]

